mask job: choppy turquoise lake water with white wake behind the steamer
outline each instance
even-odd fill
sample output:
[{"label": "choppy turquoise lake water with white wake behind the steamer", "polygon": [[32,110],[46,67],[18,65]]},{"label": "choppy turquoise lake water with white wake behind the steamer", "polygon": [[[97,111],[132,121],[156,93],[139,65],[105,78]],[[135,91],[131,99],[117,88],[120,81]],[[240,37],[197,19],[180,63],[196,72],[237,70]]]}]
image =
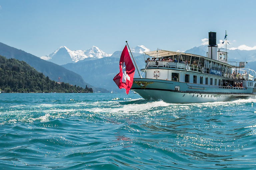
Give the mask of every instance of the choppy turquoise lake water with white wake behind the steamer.
[{"label": "choppy turquoise lake water with white wake behind the steamer", "polygon": [[256,169],[255,104],[0,94],[0,169]]}]

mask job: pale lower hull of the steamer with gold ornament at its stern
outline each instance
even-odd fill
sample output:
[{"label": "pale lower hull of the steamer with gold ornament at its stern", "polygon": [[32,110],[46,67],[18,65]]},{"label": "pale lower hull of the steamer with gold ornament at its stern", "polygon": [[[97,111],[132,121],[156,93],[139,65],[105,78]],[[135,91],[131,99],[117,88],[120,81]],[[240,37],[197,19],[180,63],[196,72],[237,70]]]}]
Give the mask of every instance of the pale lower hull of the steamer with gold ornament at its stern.
[{"label": "pale lower hull of the steamer with gold ornament at its stern", "polygon": [[[179,89],[175,90],[175,86],[179,86]],[[255,96],[252,88],[220,89],[209,85],[192,86],[190,83],[146,78],[134,78],[131,90],[146,100],[163,100],[168,103],[219,102]]]}]

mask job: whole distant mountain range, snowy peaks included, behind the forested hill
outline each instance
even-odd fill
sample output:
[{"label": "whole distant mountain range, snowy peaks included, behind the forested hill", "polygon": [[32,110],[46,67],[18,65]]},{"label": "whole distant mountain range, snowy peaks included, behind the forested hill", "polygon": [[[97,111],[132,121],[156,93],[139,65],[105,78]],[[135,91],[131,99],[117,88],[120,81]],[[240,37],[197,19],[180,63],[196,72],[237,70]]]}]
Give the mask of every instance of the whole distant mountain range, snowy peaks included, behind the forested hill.
[{"label": "whole distant mountain range, snowy peaks included, behind the forested hill", "polygon": [[[5,48],[13,47],[0,43],[0,55],[6,56],[7,58],[24,60],[32,67],[36,68],[37,71],[43,72],[46,76],[49,76],[52,80],[56,81],[57,77],[62,77],[62,81],[70,84],[75,84],[74,82],[76,82],[76,84],[81,87],[84,87],[85,84],[89,84],[88,87],[94,86],[94,91],[104,92],[104,90],[95,89],[95,87],[101,87],[108,91],[122,92],[113,81],[113,77],[119,72],[119,58],[122,51],[107,54],[96,46],[88,50],[75,51],[68,49],[66,46],[62,46],[53,53],[42,56],[41,58],[48,60],[45,61],[16,48],[9,50],[12,52],[3,50]],[[131,51],[139,69],[145,68],[145,58],[142,53],[150,50],[143,45],[139,45],[131,48]],[[186,50],[185,53],[206,56],[207,51],[207,45],[201,45]],[[256,50],[227,49],[227,52],[228,60],[230,61],[229,64],[236,65],[235,62],[246,60],[248,61],[246,67],[256,70]],[[54,61],[58,65],[49,61]],[[60,76],[56,76],[56,73]],[[141,74],[143,73],[141,72]],[[134,76],[138,77],[137,71],[135,71]],[[83,80],[86,80],[87,83]]]}]

